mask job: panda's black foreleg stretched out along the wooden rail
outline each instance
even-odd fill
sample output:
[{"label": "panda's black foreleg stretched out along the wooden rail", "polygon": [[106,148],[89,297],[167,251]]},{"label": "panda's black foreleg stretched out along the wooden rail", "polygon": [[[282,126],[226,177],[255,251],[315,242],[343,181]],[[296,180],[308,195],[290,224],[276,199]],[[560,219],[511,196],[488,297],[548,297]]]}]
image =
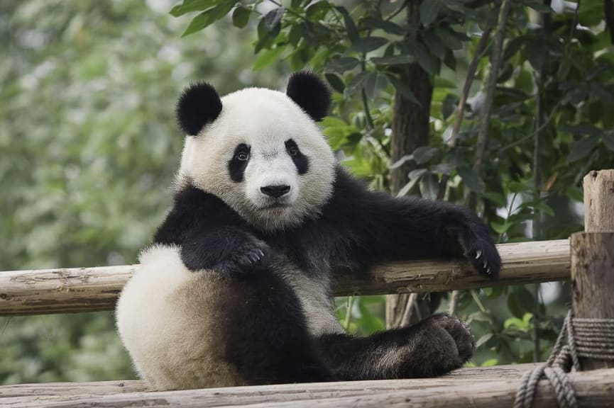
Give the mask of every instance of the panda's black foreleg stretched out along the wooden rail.
[{"label": "panda's black foreleg stretched out along the wooden rail", "polygon": [[476,271],[498,276],[500,256],[475,212],[441,201],[393,198],[353,183],[340,176],[327,209],[332,223],[352,237],[350,261],[368,268],[382,261],[464,255]]}]

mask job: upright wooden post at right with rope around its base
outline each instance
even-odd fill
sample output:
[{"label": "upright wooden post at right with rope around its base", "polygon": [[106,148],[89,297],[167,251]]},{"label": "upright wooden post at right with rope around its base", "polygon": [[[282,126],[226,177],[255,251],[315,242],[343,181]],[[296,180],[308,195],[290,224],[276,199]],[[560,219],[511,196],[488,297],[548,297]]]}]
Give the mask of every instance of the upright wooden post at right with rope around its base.
[{"label": "upright wooden post at right with rope around its base", "polygon": [[[614,170],[584,177],[584,230],[571,235],[574,317],[614,319]],[[614,361],[581,358],[582,370]]]}]

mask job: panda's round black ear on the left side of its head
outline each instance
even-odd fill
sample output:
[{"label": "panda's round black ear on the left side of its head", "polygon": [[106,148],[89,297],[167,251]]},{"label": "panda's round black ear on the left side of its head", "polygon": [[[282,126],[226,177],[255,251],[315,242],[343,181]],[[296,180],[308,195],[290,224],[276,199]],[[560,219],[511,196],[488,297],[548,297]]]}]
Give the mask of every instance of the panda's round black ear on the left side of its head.
[{"label": "panda's round black ear on the left side of its head", "polygon": [[190,84],[177,101],[177,123],[186,135],[198,135],[202,127],[216,120],[220,112],[219,95],[206,82]]}]

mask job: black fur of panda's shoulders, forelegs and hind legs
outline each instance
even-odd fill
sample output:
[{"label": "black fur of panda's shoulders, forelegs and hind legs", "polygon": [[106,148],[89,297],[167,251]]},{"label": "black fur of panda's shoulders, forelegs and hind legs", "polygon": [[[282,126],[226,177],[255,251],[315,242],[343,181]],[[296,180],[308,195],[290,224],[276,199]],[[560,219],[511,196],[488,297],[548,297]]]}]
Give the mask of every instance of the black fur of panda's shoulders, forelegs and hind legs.
[{"label": "black fur of panda's shoulders, forelegs and hind legs", "polygon": [[[329,266],[360,274],[383,261],[459,254],[481,273],[497,276],[500,270],[488,229],[473,212],[367,191],[340,168],[322,214],[298,227],[263,232],[216,196],[187,187],[175,196],[154,241],[180,245],[182,261],[192,271],[210,269],[244,285],[230,295],[230,308],[241,308],[243,297],[258,305],[228,311],[236,317],[228,358],[251,384],[439,375],[460,367],[473,353],[468,329],[442,316],[361,339],[324,335],[314,345],[295,300],[300,292],[271,273],[280,259],[315,280],[327,278]],[[398,358],[390,360],[385,351],[395,351]]]}]

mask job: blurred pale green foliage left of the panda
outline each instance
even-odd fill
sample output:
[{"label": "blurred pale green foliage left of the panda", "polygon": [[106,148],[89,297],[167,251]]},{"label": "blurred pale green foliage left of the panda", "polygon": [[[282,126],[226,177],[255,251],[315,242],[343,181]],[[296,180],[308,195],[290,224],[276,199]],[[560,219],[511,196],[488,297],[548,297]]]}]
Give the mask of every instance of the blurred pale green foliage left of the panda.
[{"label": "blurred pale green foliage left of the panda", "polygon": [[[182,87],[277,86],[239,31],[180,39],[170,7],[0,3],[0,271],[136,263],[170,205]],[[0,383],[133,377],[111,312],[0,318]]]}]

